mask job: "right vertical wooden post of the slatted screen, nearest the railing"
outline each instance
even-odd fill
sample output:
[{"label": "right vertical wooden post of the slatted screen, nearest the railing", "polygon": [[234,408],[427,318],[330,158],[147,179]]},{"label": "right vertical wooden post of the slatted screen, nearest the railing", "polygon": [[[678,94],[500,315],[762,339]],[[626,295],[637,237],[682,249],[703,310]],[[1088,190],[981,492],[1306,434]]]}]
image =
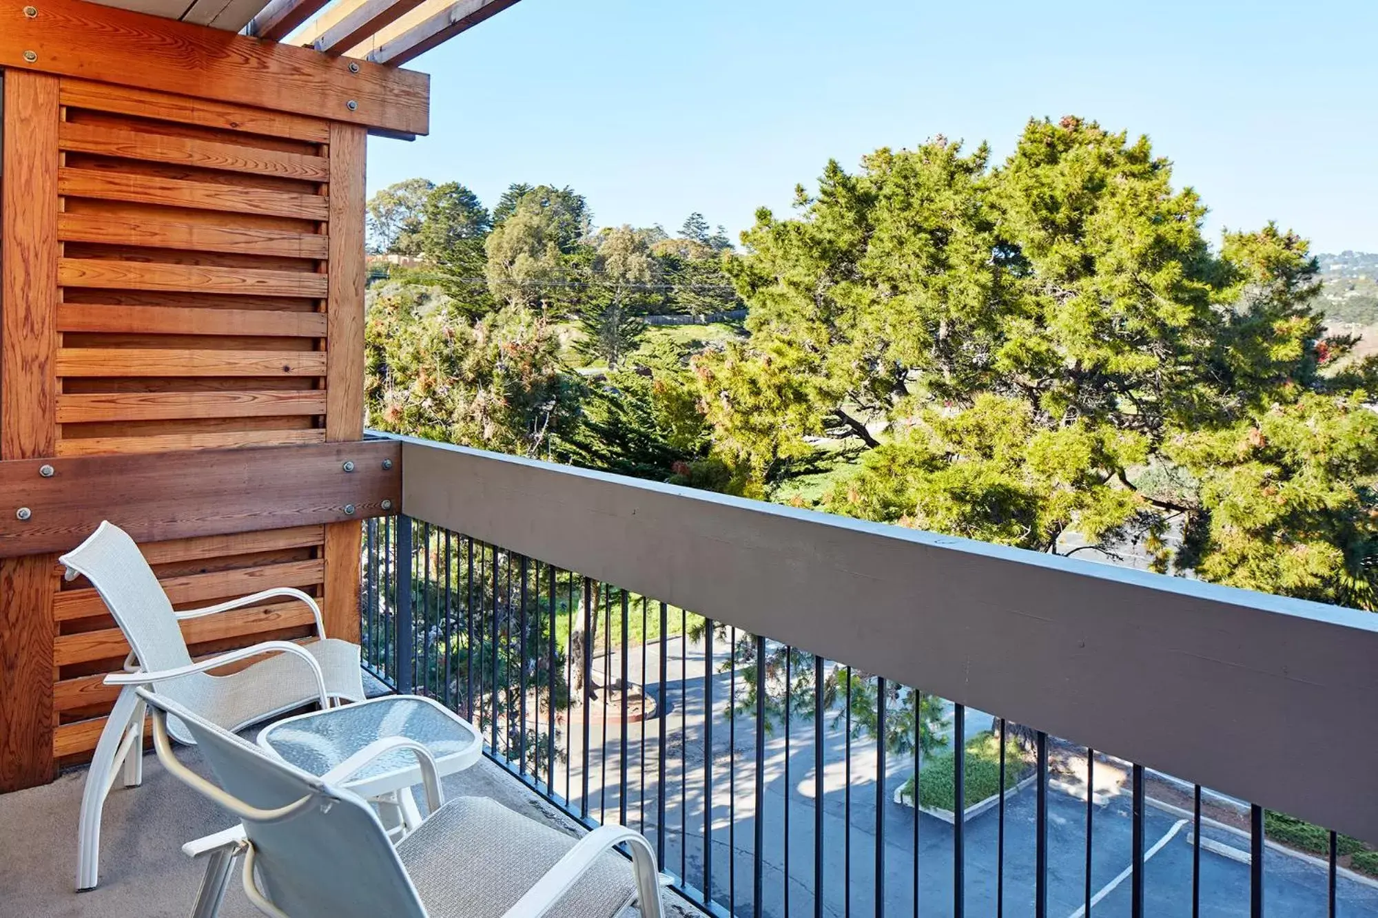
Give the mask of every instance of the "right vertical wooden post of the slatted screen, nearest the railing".
[{"label": "right vertical wooden post of the slatted screen, nearest the railing", "polygon": [[[364,132],[331,125],[331,258],[327,266],[329,357],[325,368],[325,438],[364,436]],[[358,641],[360,551],[358,522],[325,527],[325,633]]]}]

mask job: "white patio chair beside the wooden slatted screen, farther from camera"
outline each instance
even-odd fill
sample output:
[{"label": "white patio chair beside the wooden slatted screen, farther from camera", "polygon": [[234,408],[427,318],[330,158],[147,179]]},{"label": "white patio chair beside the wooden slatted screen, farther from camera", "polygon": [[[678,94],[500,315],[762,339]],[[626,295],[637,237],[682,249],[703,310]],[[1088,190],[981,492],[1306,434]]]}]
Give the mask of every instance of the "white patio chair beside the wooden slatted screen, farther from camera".
[{"label": "white patio chair beside the wooden slatted screen, farther from camera", "polygon": [[[123,689],[101,732],[81,794],[77,890],[94,889],[96,885],[101,812],[120,766],[124,766],[125,787],[135,787],[143,779],[143,702],[135,695],[136,685],[152,685],[158,695],[179,702],[229,731],[243,729],[313,702],[328,707],[331,699],[364,700],[358,645],[327,638],[320,608],[300,590],[276,587],[204,609],[174,612],[134,539],[109,521],[62,555],[61,561],[68,568],[69,580],[84,575],[91,582],[132,648],[125,659],[124,669],[128,673],[105,680]],[[198,663],[192,662],[179,622],[282,597],[310,606],[320,640],[310,644],[265,641]],[[232,675],[207,673],[263,653],[273,656]],[[168,731],[183,743],[196,742],[175,720],[168,724]]]}]

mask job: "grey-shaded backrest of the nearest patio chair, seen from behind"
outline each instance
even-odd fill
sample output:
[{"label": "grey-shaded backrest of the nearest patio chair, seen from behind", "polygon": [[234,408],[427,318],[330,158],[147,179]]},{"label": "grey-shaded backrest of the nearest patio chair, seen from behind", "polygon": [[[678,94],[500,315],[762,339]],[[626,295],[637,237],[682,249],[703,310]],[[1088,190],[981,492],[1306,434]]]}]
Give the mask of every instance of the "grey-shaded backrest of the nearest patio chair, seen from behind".
[{"label": "grey-shaded backrest of the nearest patio chair, seen from behind", "polygon": [[[139,695],[186,725],[220,790],[241,805],[277,809],[314,798],[285,819],[243,819],[259,889],[274,906],[292,918],[426,918],[383,824],[362,798],[273,758],[164,695]],[[160,746],[158,757],[164,754],[171,751]]]}]

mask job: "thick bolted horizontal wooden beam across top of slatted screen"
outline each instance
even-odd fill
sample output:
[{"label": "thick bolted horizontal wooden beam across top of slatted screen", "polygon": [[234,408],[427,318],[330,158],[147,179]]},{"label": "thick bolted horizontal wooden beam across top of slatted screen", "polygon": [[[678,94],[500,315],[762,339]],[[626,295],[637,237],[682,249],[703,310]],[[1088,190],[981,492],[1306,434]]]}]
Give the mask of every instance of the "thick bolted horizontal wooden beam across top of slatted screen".
[{"label": "thick bolted horizontal wooden beam across top of slatted screen", "polygon": [[[0,66],[426,134],[430,77],[83,0],[0,7]],[[33,59],[29,59],[32,55]],[[350,103],[353,102],[353,108]]]}]

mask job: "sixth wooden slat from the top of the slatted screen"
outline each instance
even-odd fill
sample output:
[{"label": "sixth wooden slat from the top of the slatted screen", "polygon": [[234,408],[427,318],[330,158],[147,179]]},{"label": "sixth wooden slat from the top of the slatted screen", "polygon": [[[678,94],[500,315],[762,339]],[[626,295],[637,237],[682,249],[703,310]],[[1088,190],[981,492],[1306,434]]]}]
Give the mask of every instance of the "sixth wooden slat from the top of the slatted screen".
[{"label": "sixth wooden slat from the top of the slatted screen", "polygon": [[324,338],[325,313],[59,303],[58,331],[127,335]]}]

